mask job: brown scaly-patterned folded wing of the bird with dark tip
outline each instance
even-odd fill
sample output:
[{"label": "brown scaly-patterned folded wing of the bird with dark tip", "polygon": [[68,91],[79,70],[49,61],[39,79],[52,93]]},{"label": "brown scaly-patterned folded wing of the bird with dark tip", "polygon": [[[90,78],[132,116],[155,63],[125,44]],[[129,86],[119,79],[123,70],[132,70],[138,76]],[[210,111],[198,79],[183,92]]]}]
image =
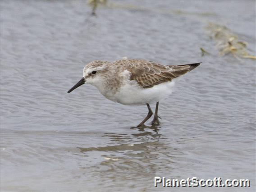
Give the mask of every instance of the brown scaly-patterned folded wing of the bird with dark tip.
[{"label": "brown scaly-patterned folded wing of the bird with dark tip", "polygon": [[199,64],[161,65],[152,61],[130,59],[127,66],[131,73],[130,80],[137,81],[143,88],[150,88],[163,82],[170,82]]}]

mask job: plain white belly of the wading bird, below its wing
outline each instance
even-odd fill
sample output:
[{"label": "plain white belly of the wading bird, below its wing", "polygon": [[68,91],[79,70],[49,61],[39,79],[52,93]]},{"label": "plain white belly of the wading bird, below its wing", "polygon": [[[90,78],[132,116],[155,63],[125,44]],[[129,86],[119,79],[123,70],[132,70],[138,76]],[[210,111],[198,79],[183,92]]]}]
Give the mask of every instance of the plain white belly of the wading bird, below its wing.
[{"label": "plain white belly of the wading bird, below its wing", "polygon": [[118,92],[108,95],[111,101],[123,105],[145,105],[155,103],[171,95],[175,82],[165,82],[151,88],[138,87],[136,84],[126,83]]}]

